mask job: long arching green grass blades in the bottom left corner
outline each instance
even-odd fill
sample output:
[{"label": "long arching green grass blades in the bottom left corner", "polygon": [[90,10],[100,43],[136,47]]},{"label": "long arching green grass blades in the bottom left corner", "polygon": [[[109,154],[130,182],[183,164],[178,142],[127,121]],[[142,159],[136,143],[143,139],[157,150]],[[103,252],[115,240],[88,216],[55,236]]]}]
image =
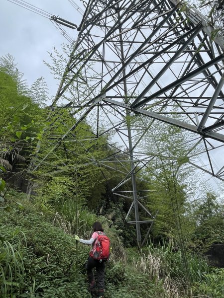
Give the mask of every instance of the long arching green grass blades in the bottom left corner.
[{"label": "long arching green grass blades in the bottom left corner", "polygon": [[0,297],[8,298],[23,288],[24,266],[18,250],[8,241],[0,244]]}]

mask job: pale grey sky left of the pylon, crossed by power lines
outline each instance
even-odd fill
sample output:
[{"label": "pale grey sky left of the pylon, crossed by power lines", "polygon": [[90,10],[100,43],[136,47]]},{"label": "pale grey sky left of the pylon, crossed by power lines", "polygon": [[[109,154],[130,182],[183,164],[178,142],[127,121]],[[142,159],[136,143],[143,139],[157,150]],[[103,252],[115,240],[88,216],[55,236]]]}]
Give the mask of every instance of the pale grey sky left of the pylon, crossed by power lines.
[{"label": "pale grey sky left of the pylon, crossed by power lines", "polygon": [[[27,0],[27,2],[77,25],[81,22],[81,14],[68,0]],[[81,1],[75,0],[75,2],[83,8]],[[8,0],[0,0],[0,3],[0,56],[11,54],[29,85],[36,78],[43,76],[50,96],[55,95],[57,81],[53,79],[43,60],[50,62],[47,51],[51,52],[53,47],[60,49],[61,44],[68,41],[48,18]],[[64,29],[76,39],[77,30],[67,27]]]}]

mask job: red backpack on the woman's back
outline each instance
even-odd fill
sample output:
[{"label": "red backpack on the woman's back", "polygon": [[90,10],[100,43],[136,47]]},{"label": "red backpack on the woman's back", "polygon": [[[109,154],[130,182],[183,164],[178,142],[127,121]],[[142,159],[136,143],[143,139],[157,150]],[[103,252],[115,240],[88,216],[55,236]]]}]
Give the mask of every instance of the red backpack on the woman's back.
[{"label": "red backpack on the woman's back", "polygon": [[98,237],[96,240],[98,239],[98,243],[96,245],[96,251],[93,253],[93,250],[91,250],[90,256],[99,261],[108,260],[110,256],[110,238],[103,232],[97,231],[97,233]]}]

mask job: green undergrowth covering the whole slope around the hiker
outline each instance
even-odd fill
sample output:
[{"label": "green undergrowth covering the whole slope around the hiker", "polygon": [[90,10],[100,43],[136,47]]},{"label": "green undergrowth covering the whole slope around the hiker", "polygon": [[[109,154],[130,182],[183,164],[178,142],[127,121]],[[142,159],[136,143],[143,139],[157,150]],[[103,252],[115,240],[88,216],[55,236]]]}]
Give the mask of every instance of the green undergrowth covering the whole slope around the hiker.
[{"label": "green undergrowth covering the whole slope around the hiker", "polygon": [[[1,298],[90,298],[85,270],[89,247],[74,241],[76,219],[62,212],[43,212],[23,195],[9,192],[0,210]],[[119,231],[104,217],[79,213],[78,233],[91,235],[94,221],[103,223],[112,240],[106,266],[106,298],[223,298],[224,270],[210,268],[188,252],[191,286],[187,285],[180,251],[171,245],[149,245],[141,252],[124,249]],[[78,273],[76,273],[78,271]]]}]

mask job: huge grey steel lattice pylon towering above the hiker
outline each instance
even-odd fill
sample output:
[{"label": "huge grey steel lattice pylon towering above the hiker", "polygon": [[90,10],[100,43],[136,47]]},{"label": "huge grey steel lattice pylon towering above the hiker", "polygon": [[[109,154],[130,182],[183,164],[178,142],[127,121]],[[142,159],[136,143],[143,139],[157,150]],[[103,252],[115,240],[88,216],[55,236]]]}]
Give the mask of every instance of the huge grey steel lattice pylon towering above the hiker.
[{"label": "huge grey steel lattice pylon towering above the hiker", "polygon": [[[147,237],[154,217],[140,203],[136,170],[147,167],[155,156],[142,152],[138,145],[155,120],[190,131],[192,148],[204,148],[204,161],[195,162],[189,150],[189,162],[224,181],[224,164],[218,168],[213,164],[213,154],[221,154],[224,146],[224,39],[219,35],[212,38],[213,29],[204,16],[176,0],[83,3],[86,10],[78,37],[51,105],[51,111],[72,108],[76,121],[32,170],[64,140],[71,139],[80,122],[95,118],[95,138],[112,131],[119,144],[114,154],[97,163],[125,175],[112,191],[133,200],[126,219],[134,210],[135,221],[130,224],[136,225],[141,246],[146,238],[142,241],[140,224],[149,223]],[[72,98],[71,86],[75,84],[84,84],[85,92],[78,88]],[[174,110],[175,115],[183,116],[181,120]],[[142,115],[151,122],[137,131],[127,121],[129,115]],[[130,180],[131,194],[122,192]],[[140,221],[138,208],[148,214],[149,221]]]}]

